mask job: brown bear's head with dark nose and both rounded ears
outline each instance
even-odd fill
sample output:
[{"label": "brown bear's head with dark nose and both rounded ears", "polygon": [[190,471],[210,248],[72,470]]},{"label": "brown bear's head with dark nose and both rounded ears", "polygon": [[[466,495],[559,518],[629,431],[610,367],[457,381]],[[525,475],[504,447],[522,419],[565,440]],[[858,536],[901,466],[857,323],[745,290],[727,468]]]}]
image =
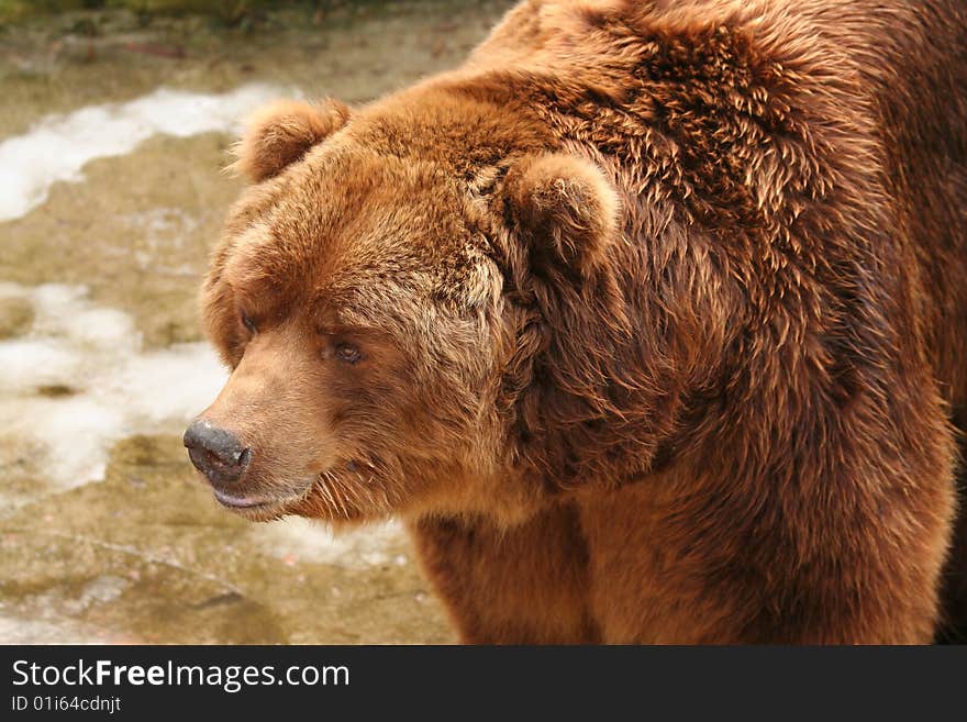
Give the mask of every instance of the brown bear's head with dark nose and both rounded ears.
[{"label": "brown bear's head with dark nose and both rounded ears", "polygon": [[616,293],[600,167],[422,92],[273,104],[235,168],[202,290],[232,373],[185,437],[219,501],[333,521],[541,503],[555,324]]}]

